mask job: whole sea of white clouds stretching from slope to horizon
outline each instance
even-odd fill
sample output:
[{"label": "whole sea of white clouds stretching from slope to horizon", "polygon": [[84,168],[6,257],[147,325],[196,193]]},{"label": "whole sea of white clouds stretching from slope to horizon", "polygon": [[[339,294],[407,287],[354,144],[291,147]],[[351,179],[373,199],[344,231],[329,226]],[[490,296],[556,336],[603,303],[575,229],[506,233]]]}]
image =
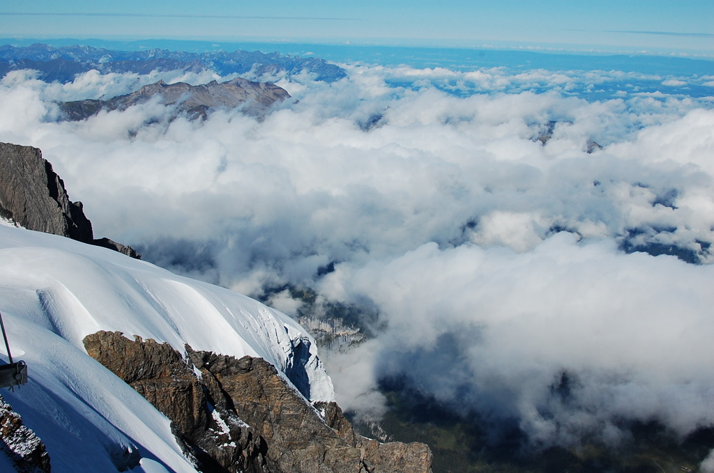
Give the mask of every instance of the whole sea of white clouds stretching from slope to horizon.
[{"label": "whole sea of white clouds stretching from slope to horizon", "polygon": [[[376,310],[326,360],[347,410],[378,416],[378,380],[402,377],[538,445],[714,426],[714,99],[685,93],[714,77],[346,67],[281,79],[293,99],[263,121],[151,101],[58,122],[54,101],[218,77],[16,71],[0,140],[41,148],[95,234],[146,260]],[[624,250],[648,245],[698,264]]]}]

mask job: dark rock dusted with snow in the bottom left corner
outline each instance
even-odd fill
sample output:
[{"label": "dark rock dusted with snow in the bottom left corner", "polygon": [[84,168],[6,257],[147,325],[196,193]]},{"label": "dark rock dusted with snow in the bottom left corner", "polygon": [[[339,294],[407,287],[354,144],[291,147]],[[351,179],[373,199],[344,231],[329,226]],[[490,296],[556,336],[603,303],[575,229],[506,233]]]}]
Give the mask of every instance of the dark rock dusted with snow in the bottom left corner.
[{"label": "dark rock dusted with snow in the bottom left corner", "polygon": [[0,454],[4,451],[19,473],[49,473],[50,458],[45,445],[22,424],[20,414],[0,396]]}]

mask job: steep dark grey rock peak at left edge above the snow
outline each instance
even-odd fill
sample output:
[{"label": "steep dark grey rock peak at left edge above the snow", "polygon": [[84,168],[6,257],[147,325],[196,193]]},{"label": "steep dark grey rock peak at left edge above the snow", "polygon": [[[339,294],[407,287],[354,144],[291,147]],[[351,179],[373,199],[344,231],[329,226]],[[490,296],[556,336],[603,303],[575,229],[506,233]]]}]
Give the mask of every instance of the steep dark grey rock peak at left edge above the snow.
[{"label": "steep dark grey rock peak at left edge above the snow", "polygon": [[82,203],[69,200],[64,182],[37,148],[0,143],[0,215],[29,230],[140,256],[109,238],[94,239]]}]

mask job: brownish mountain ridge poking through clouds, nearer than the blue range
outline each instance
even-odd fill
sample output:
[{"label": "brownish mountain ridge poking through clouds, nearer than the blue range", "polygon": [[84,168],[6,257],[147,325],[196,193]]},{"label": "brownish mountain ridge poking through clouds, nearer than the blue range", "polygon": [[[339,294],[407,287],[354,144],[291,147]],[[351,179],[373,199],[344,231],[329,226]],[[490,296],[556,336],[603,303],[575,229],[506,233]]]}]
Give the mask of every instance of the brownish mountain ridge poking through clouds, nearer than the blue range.
[{"label": "brownish mountain ridge poking through clouds, nearer than the blue range", "polygon": [[199,86],[185,82],[167,84],[164,81],[149,84],[134,93],[109,100],[87,99],[60,103],[64,118],[69,121],[84,120],[102,110],[126,110],[130,106],[161,97],[164,105],[176,104],[176,113],[186,113],[191,118],[205,117],[216,108],[242,107],[251,116],[262,117],[273,103],[290,95],[272,82],[253,82],[243,78],[218,83],[211,81]]}]

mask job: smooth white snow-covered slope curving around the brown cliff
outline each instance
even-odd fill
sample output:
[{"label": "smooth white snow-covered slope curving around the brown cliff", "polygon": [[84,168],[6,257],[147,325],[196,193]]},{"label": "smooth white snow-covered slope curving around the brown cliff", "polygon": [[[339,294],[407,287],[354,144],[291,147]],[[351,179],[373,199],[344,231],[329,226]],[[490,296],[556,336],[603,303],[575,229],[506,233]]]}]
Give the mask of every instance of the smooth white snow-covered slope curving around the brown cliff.
[{"label": "smooth white snow-covered slope curving around the brown cliff", "polygon": [[[0,311],[13,357],[29,365],[28,384],[2,395],[44,440],[54,473],[114,472],[116,458],[135,450],[142,460],[133,472],[195,471],[169,420],[86,354],[82,339],[98,330],[169,342],[179,352],[188,343],[262,357],[281,372],[304,362],[311,400],[333,400],[316,345],[281,312],[111,250],[6,223]],[[300,342],[310,347],[308,360],[293,360]]]}]

